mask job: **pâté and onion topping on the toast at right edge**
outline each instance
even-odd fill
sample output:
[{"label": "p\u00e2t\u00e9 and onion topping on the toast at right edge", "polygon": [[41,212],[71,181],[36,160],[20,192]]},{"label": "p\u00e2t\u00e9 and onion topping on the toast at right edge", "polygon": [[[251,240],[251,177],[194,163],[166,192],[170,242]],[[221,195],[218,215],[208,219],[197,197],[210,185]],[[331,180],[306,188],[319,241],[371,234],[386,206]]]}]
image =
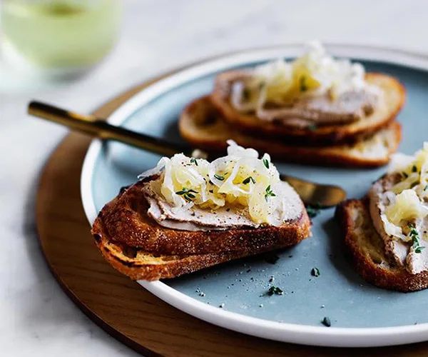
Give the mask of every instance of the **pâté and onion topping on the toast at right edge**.
[{"label": "p\u00e2t\u00e9 and onion topping on the toast at right edge", "polygon": [[385,248],[409,271],[428,270],[428,143],[414,156],[396,154],[369,193],[370,216]]}]

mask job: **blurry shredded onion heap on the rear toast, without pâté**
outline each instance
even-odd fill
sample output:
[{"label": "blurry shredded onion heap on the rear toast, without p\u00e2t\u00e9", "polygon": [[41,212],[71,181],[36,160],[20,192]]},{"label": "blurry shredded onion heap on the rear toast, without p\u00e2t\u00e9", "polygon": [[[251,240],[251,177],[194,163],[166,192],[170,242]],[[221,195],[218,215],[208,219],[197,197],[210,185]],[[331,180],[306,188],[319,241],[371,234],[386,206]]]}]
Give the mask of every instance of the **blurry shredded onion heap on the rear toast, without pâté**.
[{"label": "blurry shredded onion heap on the rear toast, without p\u00e2t\u00e9", "polygon": [[318,41],[307,45],[302,56],[294,61],[277,59],[255,67],[246,81],[232,86],[230,101],[236,110],[261,111],[267,102],[292,104],[295,99],[329,95],[337,99],[347,91],[379,89],[365,81],[365,68],[347,59],[335,59]]}]

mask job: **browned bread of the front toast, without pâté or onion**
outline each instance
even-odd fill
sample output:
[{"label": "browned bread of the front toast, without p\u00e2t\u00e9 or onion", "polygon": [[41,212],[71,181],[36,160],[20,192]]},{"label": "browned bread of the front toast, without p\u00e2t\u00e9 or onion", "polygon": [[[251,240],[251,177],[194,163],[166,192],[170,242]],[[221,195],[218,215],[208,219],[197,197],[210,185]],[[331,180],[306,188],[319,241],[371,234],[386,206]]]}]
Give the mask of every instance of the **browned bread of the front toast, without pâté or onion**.
[{"label": "browned bread of the front toast, without p\u00e2t\u00e9 or onion", "polygon": [[104,258],[135,280],[173,278],[218,263],[292,246],[310,236],[310,219],[300,217],[280,227],[225,231],[178,231],[147,215],[148,202],[138,181],[107,203],[92,234]]}]

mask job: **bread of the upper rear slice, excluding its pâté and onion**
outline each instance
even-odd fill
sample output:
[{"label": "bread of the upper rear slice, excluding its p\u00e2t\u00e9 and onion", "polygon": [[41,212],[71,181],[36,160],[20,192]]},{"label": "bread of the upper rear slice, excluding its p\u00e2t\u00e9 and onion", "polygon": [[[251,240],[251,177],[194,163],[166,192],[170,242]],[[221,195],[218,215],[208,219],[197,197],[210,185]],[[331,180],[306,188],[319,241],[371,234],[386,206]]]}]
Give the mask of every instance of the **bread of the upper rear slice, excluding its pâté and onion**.
[{"label": "bread of the upper rear slice, excluding its p\u00e2t\u00e9 and onion", "polygon": [[224,82],[233,75],[234,71],[219,74],[211,100],[215,108],[220,111],[225,121],[232,126],[255,134],[264,134],[285,142],[294,142],[306,145],[352,144],[371,136],[387,126],[399,113],[405,101],[404,86],[394,77],[386,74],[368,73],[366,80],[370,84],[379,86],[384,91],[384,104],[379,106],[370,115],[360,121],[347,125],[320,126],[315,130],[297,129],[275,122],[258,119],[252,114],[241,114],[236,111],[229,101],[229,89],[225,89]]}]

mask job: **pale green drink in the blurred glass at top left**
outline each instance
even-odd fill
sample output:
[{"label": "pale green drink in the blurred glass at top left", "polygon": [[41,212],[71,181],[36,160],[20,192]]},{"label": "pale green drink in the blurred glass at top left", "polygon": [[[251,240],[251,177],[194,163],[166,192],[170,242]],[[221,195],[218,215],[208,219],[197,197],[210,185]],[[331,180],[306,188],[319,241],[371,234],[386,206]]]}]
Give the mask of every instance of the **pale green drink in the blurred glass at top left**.
[{"label": "pale green drink in the blurred glass at top left", "polygon": [[46,68],[97,64],[118,36],[120,0],[5,0],[3,40],[26,61]]}]

